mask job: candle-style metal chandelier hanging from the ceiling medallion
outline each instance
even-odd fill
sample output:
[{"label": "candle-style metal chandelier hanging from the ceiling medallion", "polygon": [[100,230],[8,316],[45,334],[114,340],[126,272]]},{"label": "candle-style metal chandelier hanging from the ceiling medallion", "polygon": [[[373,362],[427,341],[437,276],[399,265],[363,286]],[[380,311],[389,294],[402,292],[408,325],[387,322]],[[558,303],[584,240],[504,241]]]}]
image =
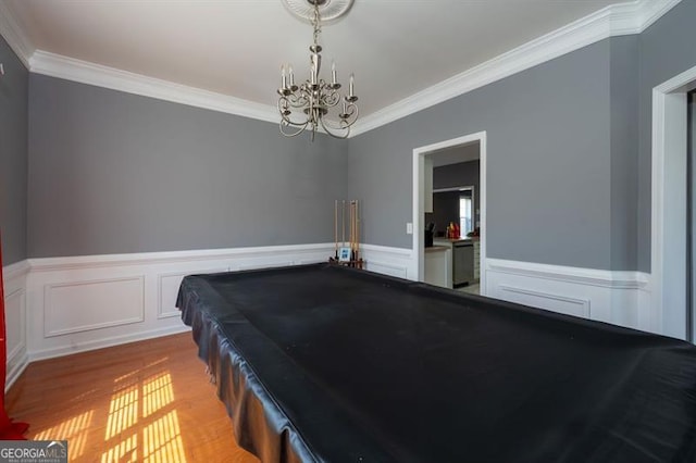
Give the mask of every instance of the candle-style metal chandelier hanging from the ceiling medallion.
[{"label": "candle-style metal chandelier hanging from the ceiling medallion", "polygon": [[[299,86],[295,84],[293,66],[281,66],[281,88],[278,88],[278,112],[281,113],[281,134],[286,137],[295,137],[304,130],[311,130],[312,141],[316,130],[323,129],[326,134],[335,138],[347,138],[350,135],[350,127],[358,120],[358,97],[355,93],[355,77],[351,74],[348,85],[348,95],[341,97],[338,91],[341,85],[336,75],[336,63],[332,63],[331,82],[326,82],[320,76],[322,66],[322,47],[319,45],[319,36],[322,32],[322,17],[319,7],[332,0],[306,0],[310,5],[309,18],[314,28],[314,42],[309,47],[310,51],[310,76],[309,79]],[[286,0],[286,5],[290,12],[298,14],[297,4]],[[347,7],[339,11],[334,17],[345,13],[352,0],[347,2]],[[336,3],[336,2],[335,2]],[[340,3],[340,2],[338,2]],[[334,110],[335,111],[332,111]],[[338,112],[337,120],[327,120],[325,116],[330,112]],[[336,116],[335,115],[335,116]],[[334,116],[334,117],[335,117]]]}]

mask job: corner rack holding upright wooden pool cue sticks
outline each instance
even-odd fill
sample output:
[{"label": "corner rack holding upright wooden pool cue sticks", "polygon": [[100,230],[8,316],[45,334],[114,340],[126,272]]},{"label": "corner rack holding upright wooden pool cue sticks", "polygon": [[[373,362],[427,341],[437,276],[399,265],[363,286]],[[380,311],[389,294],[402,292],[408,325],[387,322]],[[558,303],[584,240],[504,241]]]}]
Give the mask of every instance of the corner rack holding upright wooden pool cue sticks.
[{"label": "corner rack holding upright wooden pool cue sticks", "polygon": [[334,255],[328,258],[328,262],[353,268],[362,268],[366,264],[360,255],[360,207],[357,199],[334,202]]}]

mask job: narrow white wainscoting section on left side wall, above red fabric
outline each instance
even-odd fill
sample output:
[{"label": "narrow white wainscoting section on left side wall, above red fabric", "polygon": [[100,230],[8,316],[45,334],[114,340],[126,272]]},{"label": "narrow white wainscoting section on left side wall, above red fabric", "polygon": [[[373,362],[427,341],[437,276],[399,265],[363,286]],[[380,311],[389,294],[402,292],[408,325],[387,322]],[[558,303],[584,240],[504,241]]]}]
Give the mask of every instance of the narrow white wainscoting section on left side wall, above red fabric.
[{"label": "narrow white wainscoting section on left side wall, above red fabric", "polygon": [[2,267],[4,279],[4,315],[7,333],[5,390],[17,379],[27,365],[26,333],[26,261]]}]

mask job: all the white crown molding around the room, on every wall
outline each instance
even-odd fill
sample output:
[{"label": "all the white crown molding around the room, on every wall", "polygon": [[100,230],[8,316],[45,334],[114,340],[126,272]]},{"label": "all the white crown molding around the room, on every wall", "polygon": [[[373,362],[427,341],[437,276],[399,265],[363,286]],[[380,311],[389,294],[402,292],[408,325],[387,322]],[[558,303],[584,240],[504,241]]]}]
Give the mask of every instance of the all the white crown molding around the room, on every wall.
[{"label": "all the white crown molding around the room, on every wall", "polygon": [[[681,0],[636,0],[609,5],[552,33],[360,118],[350,138],[613,36],[639,34]],[[174,84],[35,50],[7,2],[0,34],[30,72],[245,117],[278,122],[273,105]]]}]

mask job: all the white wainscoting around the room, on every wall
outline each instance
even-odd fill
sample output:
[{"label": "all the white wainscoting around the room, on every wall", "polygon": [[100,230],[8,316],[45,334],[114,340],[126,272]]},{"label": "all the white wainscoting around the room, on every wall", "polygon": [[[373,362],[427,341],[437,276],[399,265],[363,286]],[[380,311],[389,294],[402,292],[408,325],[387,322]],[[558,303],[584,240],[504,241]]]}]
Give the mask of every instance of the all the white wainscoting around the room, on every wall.
[{"label": "all the white wainscoting around the room, on every wall", "polygon": [[[415,279],[411,249],[361,246],[365,268]],[[326,262],[333,243],[30,259],[3,268],[8,381],[29,361],[188,329],[185,275]],[[649,275],[487,259],[485,296],[661,333]]]}]

